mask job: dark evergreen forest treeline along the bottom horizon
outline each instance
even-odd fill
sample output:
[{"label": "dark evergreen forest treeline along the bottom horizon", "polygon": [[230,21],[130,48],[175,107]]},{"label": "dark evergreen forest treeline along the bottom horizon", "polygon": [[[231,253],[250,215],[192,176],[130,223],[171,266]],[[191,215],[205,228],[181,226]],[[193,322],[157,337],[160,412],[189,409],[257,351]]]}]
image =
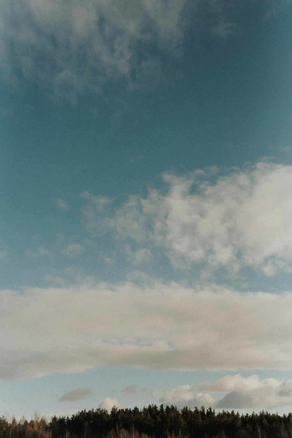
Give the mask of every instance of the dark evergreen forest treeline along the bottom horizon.
[{"label": "dark evergreen forest treeline along the bottom horizon", "polygon": [[0,417],[0,438],[292,438],[292,413],[215,413],[195,407],[144,406],[143,409],[82,410],[50,421]]}]

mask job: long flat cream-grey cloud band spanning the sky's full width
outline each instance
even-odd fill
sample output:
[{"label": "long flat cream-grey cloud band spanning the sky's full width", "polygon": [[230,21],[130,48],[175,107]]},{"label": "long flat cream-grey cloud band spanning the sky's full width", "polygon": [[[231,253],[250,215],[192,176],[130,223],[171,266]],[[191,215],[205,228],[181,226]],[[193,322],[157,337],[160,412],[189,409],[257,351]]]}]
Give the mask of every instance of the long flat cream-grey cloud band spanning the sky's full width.
[{"label": "long flat cream-grey cloud band spanning the sky's full width", "polygon": [[3,290],[0,377],[98,366],[288,370],[291,306],[292,293],[174,282]]}]

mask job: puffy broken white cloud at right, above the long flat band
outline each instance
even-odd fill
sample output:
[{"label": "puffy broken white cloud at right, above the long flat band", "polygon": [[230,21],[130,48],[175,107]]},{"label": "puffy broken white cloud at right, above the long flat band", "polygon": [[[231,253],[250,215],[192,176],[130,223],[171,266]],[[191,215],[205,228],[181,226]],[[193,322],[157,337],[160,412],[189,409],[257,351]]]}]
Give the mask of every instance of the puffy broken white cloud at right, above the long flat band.
[{"label": "puffy broken white cloud at right, above the long flat band", "polygon": [[161,190],[150,190],[146,198],[130,195],[104,215],[89,201],[83,212],[87,227],[110,228],[126,241],[128,254],[129,241],[140,257],[158,250],[175,268],[292,272],[292,166],[257,163],[214,173],[164,174]]}]

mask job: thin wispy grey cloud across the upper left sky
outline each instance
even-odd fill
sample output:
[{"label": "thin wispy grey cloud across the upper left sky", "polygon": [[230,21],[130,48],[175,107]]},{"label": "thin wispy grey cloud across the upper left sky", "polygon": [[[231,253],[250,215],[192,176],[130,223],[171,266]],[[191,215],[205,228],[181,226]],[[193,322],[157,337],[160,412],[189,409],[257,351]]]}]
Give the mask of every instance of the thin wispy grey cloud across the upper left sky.
[{"label": "thin wispy grey cloud across the upper left sky", "polygon": [[[108,78],[130,82],[151,69],[154,44],[173,53],[183,35],[185,0],[58,2],[4,0],[0,8],[2,72],[75,99]],[[147,67],[148,66],[148,67]]]}]

